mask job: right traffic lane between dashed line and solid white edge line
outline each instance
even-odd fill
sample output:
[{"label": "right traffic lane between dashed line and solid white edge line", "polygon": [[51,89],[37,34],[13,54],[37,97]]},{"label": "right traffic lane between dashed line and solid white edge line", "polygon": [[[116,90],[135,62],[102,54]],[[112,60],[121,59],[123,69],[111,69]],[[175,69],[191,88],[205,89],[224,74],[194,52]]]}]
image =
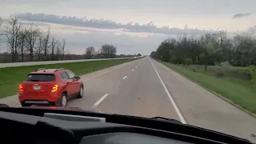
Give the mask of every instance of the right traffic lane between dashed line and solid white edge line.
[{"label": "right traffic lane between dashed line and solid white edge line", "polygon": [[[131,68],[124,67],[120,72],[121,82],[116,83],[116,89],[106,92],[109,96],[98,106],[98,110],[106,113],[178,119],[148,58],[134,63]],[[127,77],[123,79],[124,76]]]}]

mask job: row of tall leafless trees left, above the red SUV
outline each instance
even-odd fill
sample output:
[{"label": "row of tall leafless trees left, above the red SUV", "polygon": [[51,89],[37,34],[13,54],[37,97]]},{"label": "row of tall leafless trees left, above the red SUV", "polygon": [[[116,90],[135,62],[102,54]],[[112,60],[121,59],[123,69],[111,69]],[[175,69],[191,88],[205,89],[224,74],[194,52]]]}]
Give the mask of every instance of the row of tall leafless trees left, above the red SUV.
[{"label": "row of tall leafless trees left, above the red SUV", "polygon": [[[11,54],[11,62],[63,60],[66,53],[66,40],[59,40],[48,30],[40,30],[33,23],[23,26],[16,14],[1,20],[2,36],[5,36],[7,50]],[[0,25],[1,26],[1,25]],[[2,37],[2,39],[4,39]]]}]

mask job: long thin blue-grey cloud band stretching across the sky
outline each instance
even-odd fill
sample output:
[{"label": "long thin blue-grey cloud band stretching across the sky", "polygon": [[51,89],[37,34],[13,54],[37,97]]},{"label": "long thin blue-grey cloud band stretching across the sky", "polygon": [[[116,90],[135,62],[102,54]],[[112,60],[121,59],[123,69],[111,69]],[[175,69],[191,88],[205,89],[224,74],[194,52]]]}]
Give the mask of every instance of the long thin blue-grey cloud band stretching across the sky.
[{"label": "long thin blue-grey cloud band stretching across the sky", "polygon": [[176,27],[162,26],[157,27],[154,22],[149,22],[144,25],[138,24],[138,22],[129,22],[126,24],[121,24],[106,19],[88,19],[88,18],[77,18],[68,16],[58,16],[54,14],[18,14],[18,17],[22,20],[32,21],[32,22],[50,22],[57,23],[68,26],[84,26],[99,29],[122,29],[124,31],[130,32],[142,32],[142,33],[159,33],[159,34],[205,34],[207,32],[214,32],[213,30],[198,30],[196,29],[179,29]]}]

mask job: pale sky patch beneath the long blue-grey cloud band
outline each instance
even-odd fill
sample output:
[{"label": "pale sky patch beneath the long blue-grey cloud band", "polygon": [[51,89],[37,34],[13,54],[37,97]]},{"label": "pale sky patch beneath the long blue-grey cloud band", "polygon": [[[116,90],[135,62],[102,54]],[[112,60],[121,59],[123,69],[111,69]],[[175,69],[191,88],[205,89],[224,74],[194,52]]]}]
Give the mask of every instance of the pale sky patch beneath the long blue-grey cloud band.
[{"label": "pale sky patch beneath the long blue-grey cloud band", "polygon": [[[22,22],[22,26],[30,26],[30,23]],[[4,23],[5,26],[6,24]],[[150,54],[162,40],[168,38],[165,34],[150,34],[142,37],[140,33],[126,34],[127,32],[118,30],[90,30],[94,28],[40,22],[34,22],[34,25],[42,31],[46,31],[47,27],[50,26],[51,36],[56,39],[65,38],[66,50],[69,50],[72,54],[83,54],[88,46],[94,46],[96,50],[99,50],[104,44],[116,46],[118,54]],[[0,53],[7,50],[5,36],[3,36],[2,41]]]}]

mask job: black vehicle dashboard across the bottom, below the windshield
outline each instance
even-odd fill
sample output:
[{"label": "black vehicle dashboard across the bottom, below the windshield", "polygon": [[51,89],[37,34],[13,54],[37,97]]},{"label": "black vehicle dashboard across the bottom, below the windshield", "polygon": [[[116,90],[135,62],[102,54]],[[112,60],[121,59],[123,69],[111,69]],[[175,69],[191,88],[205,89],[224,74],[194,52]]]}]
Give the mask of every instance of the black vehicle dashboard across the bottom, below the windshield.
[{"label": "black vehicle dashboard across the bottom, below the windshield", "polygon": [[[9,110],[9,109],[8,109]],[[14,110],[14,109],[10,109]],[[22,109],[21,109],[22,110]],[[29,111],[29,110],[28,110]],[[47,110],[34,111],[33,115],[24,110],[24,114],[0,111],[0,134],[2,143],[47,143],[47,144],[189,144],[189,143],[250,143],[235,138],[226,137],[221,134],[222,141],[214,138],[202,138],[191,134],[178,133],[172,130],[160,130],[145,126],[134,126],[119,124],[114,121],[107,121],[106,117],[94,117],[88,115],[58,114],[57,111],[42,112]],[[55,113],[54,113],[55,112]],[[79,112],[77,112],[79,113]],[[81,113],[82,114],[82,113]],[[85,113],[84,113],[85,114]],[[101,114],[98,114],[101,115]],[[115,121],[122,120],[117,115],[109,115],[108,118],[115,118]],[[117,119],[118,118],[118,119]],[[138,119],[134,119],[138,121]],[[138,121],[139,122],[139,121]],[[146,122],[146,121],[145,121]],[[144,122],[144,123],[145,123]],[[156,122],[156,121],[149,121]],[[159,123],[159,122],[158,122]],[[161,122],[160,122],[161,123]],[[164,122],[166,126],[180,126]],[[166,127],[166,128],[167,128]],[[186,129],[187,127],[183,127]],[[168,127],[171,129],[171,127]],[[173,127],[175,129],[175,127]],[[190,127],[194,129],[194,127]],[[195,129],[198,130],[198,129]],[[191,131],[190,131],[191,132]],[[208,131],[202,131],[209,133]],[[224,142],[226,138],[226,142]],[[230,138],[230,140],[227,140]]]}]

